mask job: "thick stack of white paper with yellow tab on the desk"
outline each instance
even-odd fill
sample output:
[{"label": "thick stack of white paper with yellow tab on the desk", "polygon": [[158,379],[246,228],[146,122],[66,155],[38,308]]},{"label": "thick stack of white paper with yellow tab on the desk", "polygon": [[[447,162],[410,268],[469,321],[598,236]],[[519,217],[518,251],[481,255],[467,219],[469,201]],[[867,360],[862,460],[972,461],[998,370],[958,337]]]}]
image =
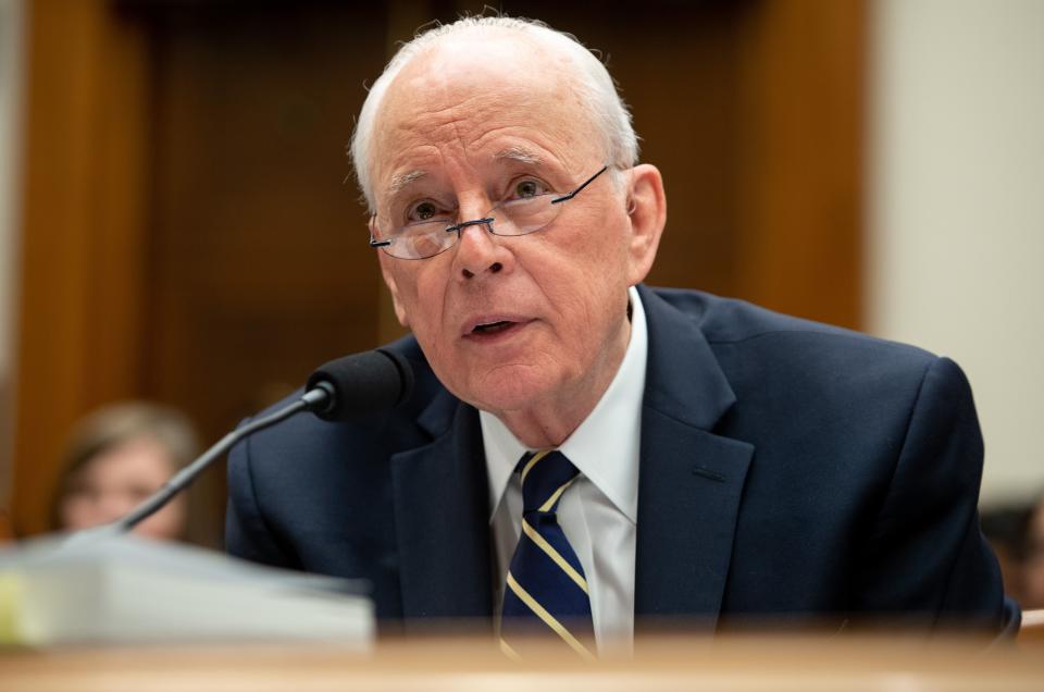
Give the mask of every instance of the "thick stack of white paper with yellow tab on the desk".
[{"label": "thick stack of white paper with yellow tab on the desk", "polygon": [[366,651],[359,582],[135,536],[0,551],[0,644],[322,642]]}]

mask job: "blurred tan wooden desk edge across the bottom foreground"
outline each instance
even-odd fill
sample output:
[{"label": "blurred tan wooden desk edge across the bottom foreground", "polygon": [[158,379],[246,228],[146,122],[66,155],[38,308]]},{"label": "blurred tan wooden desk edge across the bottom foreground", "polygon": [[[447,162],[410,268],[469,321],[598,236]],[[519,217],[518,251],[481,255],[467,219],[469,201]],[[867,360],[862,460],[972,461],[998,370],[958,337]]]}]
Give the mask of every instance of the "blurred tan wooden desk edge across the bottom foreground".
[{"label": "blurred tan wooden desk edge across the bottom foreground", "polygon": [[515,664],[486,639],[383,642],[372,655],[321,647],[69,648],[0,653],[21,690],[1044,690],[1044,641],[982,651],[932,642],[769,638],[647,640],[595,665],[548,651]]}]

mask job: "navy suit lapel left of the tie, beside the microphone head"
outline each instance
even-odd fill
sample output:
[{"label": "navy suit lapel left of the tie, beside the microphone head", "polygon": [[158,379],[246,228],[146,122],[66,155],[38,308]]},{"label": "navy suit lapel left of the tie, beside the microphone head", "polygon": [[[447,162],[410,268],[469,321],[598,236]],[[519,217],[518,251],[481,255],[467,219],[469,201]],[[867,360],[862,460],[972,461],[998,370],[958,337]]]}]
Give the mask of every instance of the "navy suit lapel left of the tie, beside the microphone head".
[{"label": "navy suit lapel left of the tie, beside the microphone head", "polygon": [[443,393],[418,421],[435,441],[391,457],[402,614],[488,618],[488,489],[478,417]]}]

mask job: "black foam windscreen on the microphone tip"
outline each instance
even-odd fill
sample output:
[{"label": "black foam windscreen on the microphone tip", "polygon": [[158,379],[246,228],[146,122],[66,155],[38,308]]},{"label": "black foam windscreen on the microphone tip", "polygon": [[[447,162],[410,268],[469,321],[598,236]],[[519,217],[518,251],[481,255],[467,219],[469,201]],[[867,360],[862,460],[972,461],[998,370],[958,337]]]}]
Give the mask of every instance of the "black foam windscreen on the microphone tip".
[{"label": "black foam windscreen on the microphone tip", "polygon": [[308,390],[325,383],[333,391],[328,405],[315,415],[328,421],[348,421],[394,408],[413,391],[413,369],[390,350],[368,350],[321,366],[309,376]]}]

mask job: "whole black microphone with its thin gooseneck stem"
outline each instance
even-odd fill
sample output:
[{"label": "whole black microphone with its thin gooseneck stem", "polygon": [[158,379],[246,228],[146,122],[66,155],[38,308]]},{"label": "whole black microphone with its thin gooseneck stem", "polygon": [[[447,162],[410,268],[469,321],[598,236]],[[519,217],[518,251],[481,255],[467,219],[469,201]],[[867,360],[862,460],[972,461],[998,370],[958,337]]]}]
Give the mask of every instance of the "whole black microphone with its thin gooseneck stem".
[{"label": "whole black microphone with its thin gooseneck stem", "polygon": [[300,398],[232,431],[128,514],[79,534],[104,536],[130,531],[171,502],[237,442],[296,413],[311,411],[323,420],[344,422],[391,409],[410,398],[412,391],[413,369],[395,351],[378,348],[331,360],[311,374]]}]

